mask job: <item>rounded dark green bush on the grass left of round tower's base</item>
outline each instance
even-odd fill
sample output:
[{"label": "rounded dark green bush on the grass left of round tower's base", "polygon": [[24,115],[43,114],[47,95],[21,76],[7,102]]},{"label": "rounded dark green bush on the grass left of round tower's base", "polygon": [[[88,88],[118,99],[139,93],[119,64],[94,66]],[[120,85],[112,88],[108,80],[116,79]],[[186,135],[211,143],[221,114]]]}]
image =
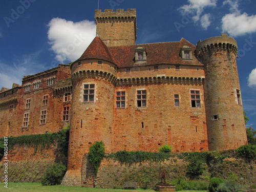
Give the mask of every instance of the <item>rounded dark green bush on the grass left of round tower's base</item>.
[{"label": "rounded dark green bush on the grass left of round tower's base", "polygon": [[59,185],[66,173],[66,166],[61,163],[55,163],[46,169],[42,178],[42,185]]}]

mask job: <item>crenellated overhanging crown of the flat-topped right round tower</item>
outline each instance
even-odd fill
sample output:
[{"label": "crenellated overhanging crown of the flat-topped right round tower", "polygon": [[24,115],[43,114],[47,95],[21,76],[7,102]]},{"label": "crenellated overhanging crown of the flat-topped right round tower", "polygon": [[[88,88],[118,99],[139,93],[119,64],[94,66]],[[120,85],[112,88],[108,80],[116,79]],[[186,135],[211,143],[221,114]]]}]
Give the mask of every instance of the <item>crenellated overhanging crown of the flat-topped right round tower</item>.
[{"label": "crenellated overhanging crown of the flat-topped right round tower", "polygon": [[229,37],[226,33],[222,33],[221,36],[210,37],[203,41],[199,40],[196,46],[196,55],[202,56],[207,52],[220,50],[229,50],[237,54],[237,41]]}]

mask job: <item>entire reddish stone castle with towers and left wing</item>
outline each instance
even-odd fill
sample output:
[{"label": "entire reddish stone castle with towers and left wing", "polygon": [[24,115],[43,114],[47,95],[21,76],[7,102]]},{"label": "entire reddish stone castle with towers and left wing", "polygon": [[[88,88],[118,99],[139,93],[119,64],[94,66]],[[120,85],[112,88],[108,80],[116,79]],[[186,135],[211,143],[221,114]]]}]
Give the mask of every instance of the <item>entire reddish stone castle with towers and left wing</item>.
[{"label": "entire reddish stone castle with towers and left wing", "polygon": [[97,36],[70,65],[25,76],[0,92],[0,134],[58,132],[70,125],[64,185],[81,186],[84,154],[222,151],[247,144],[236,64],[227,34],[135,44],[136,9],[96,10]]}]

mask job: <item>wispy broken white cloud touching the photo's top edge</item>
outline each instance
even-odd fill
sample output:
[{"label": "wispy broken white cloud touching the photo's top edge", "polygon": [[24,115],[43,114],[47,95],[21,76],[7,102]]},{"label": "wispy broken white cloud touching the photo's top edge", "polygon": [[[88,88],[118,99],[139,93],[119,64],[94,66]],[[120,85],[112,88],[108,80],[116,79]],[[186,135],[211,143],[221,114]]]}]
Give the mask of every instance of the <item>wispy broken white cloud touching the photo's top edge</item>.
[{"label": "wispy broken white cloud touching the photo's top edge", "polygon": [[188,3],[179,8],[182,15],[190,16],[194,23],[200,21],[201,26],[207,29],[210,25],[210,15],[204,14],[202,17],[201,15],[205,8],[216,7],[217,0],[188,0]]}]

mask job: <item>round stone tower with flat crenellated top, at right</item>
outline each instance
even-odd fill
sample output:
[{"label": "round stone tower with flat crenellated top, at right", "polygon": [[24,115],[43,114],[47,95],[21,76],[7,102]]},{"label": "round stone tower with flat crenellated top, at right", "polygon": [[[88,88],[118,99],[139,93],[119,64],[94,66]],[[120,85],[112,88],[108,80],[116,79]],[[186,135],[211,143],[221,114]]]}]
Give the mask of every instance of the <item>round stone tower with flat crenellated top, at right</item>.
[{"label": "round stone tower with flat crenellated top, at right", "polygon": [[227,34],[198,41],[196,55],[205,66],[205,110],[210,151],[247,144],[237,69],[237,41]]}]

